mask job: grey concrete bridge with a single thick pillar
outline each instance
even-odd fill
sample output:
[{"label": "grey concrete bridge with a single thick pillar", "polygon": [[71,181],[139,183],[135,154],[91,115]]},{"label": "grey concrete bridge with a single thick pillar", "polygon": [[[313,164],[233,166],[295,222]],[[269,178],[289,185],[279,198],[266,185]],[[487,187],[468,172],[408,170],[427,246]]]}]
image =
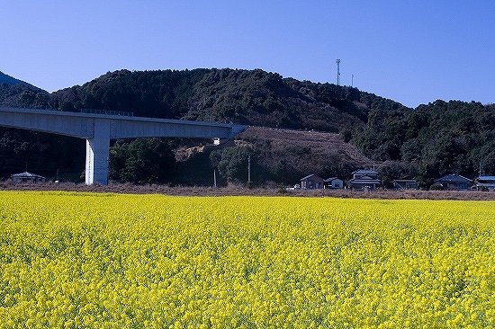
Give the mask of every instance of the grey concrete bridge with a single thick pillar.
[{"label": "grey concrete bridge with a single thick pillar", "polygon": [[0,107],[0,126],[85,138],[85,183],[108,184],[110,139],[220,138],[230,139],[247,126],[66,111]]}]

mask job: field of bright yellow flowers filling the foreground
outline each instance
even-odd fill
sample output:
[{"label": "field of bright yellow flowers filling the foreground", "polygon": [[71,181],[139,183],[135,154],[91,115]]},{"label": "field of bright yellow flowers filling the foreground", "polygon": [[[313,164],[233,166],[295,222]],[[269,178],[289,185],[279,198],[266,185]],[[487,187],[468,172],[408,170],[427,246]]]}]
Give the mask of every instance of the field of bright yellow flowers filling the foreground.
[{"label": "field of bright yellow flowers filling the foreground", "polygon": [[1,328],[492,328],[495,203],[0,191]]}]

